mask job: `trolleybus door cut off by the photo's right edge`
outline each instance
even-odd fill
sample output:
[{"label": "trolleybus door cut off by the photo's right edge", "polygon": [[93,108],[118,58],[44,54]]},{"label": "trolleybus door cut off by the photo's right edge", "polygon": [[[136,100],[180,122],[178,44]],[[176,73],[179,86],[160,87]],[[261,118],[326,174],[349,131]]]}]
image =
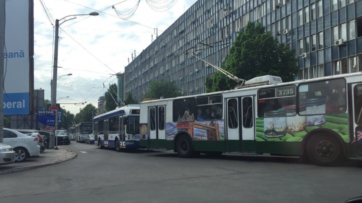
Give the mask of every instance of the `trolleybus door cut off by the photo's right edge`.
[{"label": "trolleybus door cut off by the photo's right edge", "polygon": [[[349,86],[349,85],[348,85]],[[349,105],[353,103],[352,115],[353,118],[353,130],[350,134],[349,140],[351,142],[351,149],[353,150],[353,145],[356,147],[356,154],[358,157],[362,156],[362,84],[352,84],[351,88],[348,88],[350,92],[348,95],[352,95],[352,98],[349,97]],[[353,102],[352,102],[353,101]],[[351,151],[352,151],[351,150]],[[351,155],[353,156],[353,155]]]}]

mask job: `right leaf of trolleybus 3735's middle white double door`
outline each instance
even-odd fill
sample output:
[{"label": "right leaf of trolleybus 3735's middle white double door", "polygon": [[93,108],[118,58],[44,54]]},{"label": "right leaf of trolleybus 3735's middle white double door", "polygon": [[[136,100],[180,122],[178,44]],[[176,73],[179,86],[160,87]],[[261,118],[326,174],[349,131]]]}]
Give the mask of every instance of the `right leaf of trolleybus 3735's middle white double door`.
[{"label": "right leaf of trolleybus 3735's middle white double door", "polygon": [[241,97],[241,135],[243,152],[255,152],[254,96]]}]

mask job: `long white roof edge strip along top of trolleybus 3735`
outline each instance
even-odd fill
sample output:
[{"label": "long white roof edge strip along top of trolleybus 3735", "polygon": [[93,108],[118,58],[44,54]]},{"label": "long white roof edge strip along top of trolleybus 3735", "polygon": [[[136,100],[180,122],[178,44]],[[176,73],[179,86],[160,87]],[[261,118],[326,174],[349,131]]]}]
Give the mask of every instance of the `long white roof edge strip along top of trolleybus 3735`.
[{"label": "long white roof edge strip along top of trolleybus 3735", "polygon": [[210,92],[210,93],[202,93],[202,94],[195,94],[195,95],[188,95],[188,96],[178,96],[178,97],[173,97],[173,98],[164,98],[164,99],[143,101],[143,102],[141,102],[141,104],[173,100],[175,98],[182,99],[182,98],[190,98],[190,97],[197,97],[197,96],[207,96],[207,95],[213,95],[213,94],[218,94],[218,93],[221,94],[221,93],[227,93],[227,92],[245,91],[245,90],[250,90],[250,89],[260,89],[260,88],[265,88],[265,87],[284,86],[284,85],[288,85],[288,84],[298,84],[298,83],[302,83],[302,82],[312,82],[312,81],[318,81],[318,80],[325,80],[325,79],[332,79],[332,78],[344,78],[344,77],[351,77],[351,76],[358,76],[358,75],[362,76],[362,72],[347,73],[347,74],[340,74],[340,75],[330,75],[330,76],[318,77],[318,78],[313,78],[313,79],[302,79],[302,80],[295,80],[295,81],[291,81],[291,82],[282,82],[282,83],[277,83],[277,84],[266,84],[266,85],[251,86],[251,87],[245,87],[245,88],[239,88],[239,89],[231,89],[231,90],[216,91],[216,92]]}]

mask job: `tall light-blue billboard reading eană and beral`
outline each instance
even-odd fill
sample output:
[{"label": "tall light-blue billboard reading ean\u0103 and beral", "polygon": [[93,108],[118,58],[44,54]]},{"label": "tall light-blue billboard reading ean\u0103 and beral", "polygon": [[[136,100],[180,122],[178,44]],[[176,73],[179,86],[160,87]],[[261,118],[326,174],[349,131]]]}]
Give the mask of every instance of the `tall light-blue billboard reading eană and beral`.
[{"label": "tall light-blue billboard reading ean\u0103 and beral", "polygon": [[29,94],[29,1],[5,4],[4,115],[28,115]]}]

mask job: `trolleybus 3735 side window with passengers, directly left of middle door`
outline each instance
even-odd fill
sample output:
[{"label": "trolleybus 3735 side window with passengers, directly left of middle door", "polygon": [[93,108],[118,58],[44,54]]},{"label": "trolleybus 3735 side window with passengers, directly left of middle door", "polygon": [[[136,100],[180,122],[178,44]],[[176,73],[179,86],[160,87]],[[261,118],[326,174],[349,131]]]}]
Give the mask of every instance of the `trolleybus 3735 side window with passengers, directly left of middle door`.
[{"label": "trolleybus 3735 side window with passengers, directly left of middle door", "polygon": [[197,98],[197,121],[217,120],[222,118],[222,95]]}]

